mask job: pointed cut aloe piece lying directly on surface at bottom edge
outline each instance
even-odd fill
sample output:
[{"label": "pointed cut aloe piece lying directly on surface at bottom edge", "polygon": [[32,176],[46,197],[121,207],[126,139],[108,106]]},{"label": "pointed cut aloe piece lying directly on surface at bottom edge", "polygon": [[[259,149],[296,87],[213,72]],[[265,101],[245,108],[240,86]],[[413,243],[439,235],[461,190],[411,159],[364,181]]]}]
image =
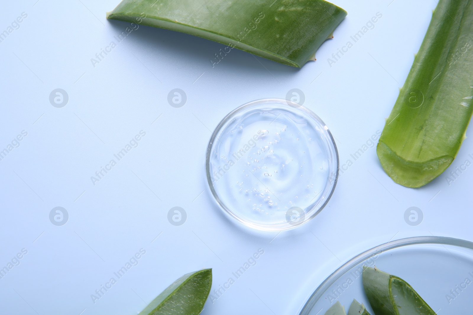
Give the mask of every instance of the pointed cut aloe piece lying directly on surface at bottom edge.
[{"label": "pointed cut aloe piece lying directly on surface at bottom edge", "polygon": [[212,286],[212,269],[184,274],[139,315],[199,315]]}]

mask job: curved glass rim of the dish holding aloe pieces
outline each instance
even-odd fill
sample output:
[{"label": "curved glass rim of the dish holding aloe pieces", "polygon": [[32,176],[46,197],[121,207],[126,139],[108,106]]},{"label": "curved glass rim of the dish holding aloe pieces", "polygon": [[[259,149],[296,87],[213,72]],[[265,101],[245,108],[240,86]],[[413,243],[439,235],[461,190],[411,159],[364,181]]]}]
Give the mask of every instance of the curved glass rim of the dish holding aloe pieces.
[{"label": "curved glass rim of the dish holding aloe pieces", "polygon": [[327,289],[329,289],[342,275],[350,271],[356,265],[363,263],[368,258],[378,255],[380,252],[385,252],[394,248],[421,244],[438,244],[443,246],[451,245],[473,250],[473,242],[460,238],[448,238],[443,236],[418,236],[412,238],[401,238],[398,240],[378,245],[351,258],[348,262],[343,264],[340,268],[338,268],[330,276],[328,276],[317,287],[317,289],[315,289],[310,298],[307,299],[307,302],[302,307],[301,311],[299,312],[299,315],[308,315],[317,303],[317,301],[324,296],[324,293],[327,291]]}]

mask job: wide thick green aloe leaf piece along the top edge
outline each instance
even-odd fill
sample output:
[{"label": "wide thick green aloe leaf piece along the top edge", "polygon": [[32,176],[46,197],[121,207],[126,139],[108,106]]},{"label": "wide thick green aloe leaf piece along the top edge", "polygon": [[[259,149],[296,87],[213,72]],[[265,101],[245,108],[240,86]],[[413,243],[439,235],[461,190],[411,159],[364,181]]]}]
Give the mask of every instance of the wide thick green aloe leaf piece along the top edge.
[{"label": "wide thick green aloe leaf piece along the top edge", "polygon": [[216,61],[236,47],[298,68],[315,59],[315,51],[346,15],[324,0],[123,0],[107,12],[107,18],[228,45],[209,56]]}]

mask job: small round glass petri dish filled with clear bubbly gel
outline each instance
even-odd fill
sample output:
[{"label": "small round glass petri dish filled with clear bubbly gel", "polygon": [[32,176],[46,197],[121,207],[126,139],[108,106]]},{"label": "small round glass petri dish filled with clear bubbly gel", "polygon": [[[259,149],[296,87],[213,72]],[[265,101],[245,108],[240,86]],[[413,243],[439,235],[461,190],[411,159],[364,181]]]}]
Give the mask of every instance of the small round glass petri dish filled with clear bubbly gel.
[{"label": "small round glass petri dish filled with clear bubbly gel", "polygon": [[289,230],[327,204],[338,178],[338,152],[315,113],[288,100],[263,99],[230,112],[206,155],[219,206],[246,226]]}]

